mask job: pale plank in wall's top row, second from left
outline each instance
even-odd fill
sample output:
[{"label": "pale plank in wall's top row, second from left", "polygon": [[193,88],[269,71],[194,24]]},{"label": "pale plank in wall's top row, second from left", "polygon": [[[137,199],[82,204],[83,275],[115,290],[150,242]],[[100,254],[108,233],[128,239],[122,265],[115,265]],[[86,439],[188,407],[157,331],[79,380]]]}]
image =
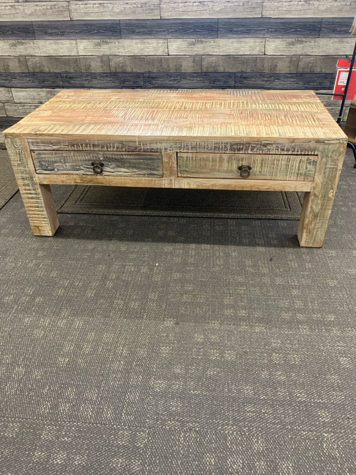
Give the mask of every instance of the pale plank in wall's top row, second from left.
[{"label": "pale plank in wall's top row, second from left", "polygon": [[159,0],[72,0],[74,20],[160,18]]}]

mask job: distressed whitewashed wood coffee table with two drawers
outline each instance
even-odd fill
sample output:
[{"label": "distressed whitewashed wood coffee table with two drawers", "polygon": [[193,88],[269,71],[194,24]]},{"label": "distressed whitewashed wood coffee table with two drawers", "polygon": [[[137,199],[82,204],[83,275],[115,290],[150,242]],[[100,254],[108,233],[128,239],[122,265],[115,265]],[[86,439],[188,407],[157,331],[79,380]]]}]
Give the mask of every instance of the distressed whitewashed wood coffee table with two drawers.
[{"label": "distressed whitewashed wood coffee table with two drawers", "polygon": [[64,90],[4,136],[35,235],[59,225],[51,184],[299,190],[313,247],[347,144],[312,91]]}]

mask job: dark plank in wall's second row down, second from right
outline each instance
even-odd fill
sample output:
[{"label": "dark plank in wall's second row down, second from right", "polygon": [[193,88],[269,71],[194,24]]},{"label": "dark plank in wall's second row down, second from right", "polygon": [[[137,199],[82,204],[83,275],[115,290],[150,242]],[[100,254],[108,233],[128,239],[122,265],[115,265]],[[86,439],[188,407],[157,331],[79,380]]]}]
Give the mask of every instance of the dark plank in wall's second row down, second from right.
[{"label": "dark plank in wall's second row down, second from right", "polygon": [[220,18],[219,38],[318,38],[321,18]]}]

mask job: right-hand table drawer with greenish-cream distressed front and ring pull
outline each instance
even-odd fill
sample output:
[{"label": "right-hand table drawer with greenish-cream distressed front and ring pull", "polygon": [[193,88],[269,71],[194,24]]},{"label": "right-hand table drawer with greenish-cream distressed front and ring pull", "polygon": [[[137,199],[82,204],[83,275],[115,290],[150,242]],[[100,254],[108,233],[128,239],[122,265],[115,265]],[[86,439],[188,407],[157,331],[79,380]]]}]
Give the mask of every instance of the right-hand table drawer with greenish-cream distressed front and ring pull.
[{"label": "right-hand table drawer with greenish-cream distressed front and ring pull", "polygon": [[316,159],[316,155],[178,153],[178,177],[308,182]]}]

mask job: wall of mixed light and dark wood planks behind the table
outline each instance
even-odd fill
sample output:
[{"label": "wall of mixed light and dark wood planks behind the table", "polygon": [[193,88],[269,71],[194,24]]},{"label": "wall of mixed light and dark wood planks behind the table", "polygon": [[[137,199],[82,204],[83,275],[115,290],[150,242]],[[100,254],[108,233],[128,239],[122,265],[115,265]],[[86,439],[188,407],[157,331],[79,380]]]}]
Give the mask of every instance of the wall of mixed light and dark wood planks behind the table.
[{"label": "wall of mixed light and dark wood planks behind the table", "polygon": [[[0,129],[63,88],[331,92],[355,45],[353,3],[1,1]],[[340,101],[320,98],[337,117]]]}]

